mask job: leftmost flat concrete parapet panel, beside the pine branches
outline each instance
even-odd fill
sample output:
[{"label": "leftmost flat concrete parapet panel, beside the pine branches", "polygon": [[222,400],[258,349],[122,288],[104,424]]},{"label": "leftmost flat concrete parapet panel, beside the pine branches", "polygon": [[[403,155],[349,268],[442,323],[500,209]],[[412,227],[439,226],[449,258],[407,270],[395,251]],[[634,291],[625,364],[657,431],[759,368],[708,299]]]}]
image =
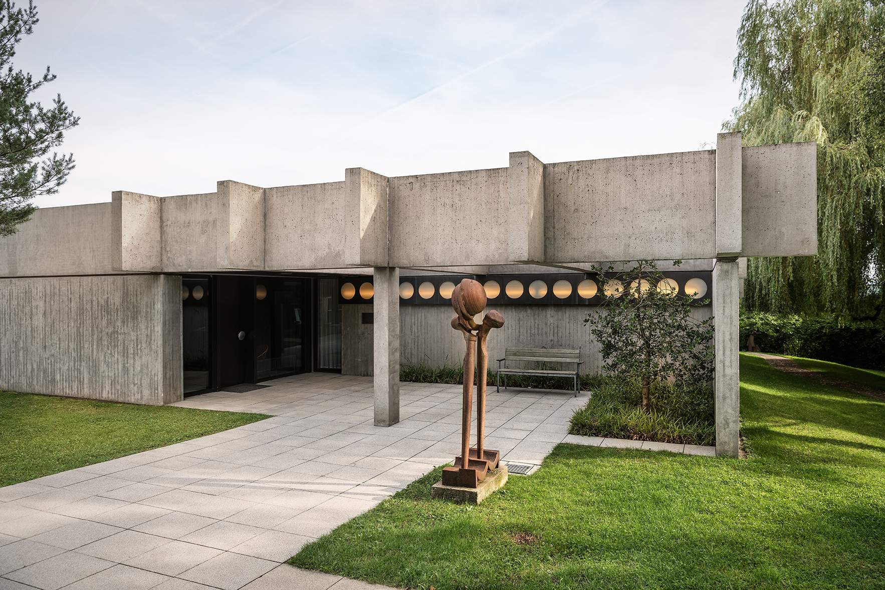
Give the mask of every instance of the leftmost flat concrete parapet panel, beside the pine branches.
[{"label": "leftmost flat concrete parapet panel, beside the pine branches", "polygon": [[4,277],[102,274],[113,272],[111,261],[111,203],[38,209],[0,238]]}]

